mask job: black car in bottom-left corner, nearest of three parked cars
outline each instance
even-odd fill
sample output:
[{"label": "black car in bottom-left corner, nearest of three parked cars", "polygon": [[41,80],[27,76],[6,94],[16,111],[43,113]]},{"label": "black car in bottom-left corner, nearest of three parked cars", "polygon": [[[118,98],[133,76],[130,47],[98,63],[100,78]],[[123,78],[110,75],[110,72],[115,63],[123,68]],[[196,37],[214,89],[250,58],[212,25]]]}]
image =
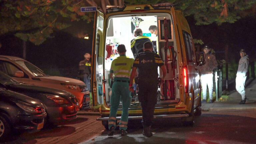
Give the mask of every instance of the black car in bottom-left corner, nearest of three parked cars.
[{"label": "black car in bottom-left corner, nearest of three parked cars", "polygon": [[14,131],[38,131],[47,113],[41,102],[2,87],[0,84],[0,140]]}]

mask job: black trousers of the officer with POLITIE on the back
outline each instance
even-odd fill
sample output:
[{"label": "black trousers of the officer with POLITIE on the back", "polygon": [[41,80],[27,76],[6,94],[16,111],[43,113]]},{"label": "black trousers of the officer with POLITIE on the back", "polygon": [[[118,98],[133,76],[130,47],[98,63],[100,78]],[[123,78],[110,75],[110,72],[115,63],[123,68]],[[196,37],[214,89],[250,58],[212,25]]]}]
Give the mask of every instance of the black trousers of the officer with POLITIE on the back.
[{"label": "black trousers of the officer with POLITIE on the back", "polygon": [[142,123],[144,126],[151,126],[154,118],[155,105],[157,103],[156,82],[140,82],[138,99],[142,107]]}]

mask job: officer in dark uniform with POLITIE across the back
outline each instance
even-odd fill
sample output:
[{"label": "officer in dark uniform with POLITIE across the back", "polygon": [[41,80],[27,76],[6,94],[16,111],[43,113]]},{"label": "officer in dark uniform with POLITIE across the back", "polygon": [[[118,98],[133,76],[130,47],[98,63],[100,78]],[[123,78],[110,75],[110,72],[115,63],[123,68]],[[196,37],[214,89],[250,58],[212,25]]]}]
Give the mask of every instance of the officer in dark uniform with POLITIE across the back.
[{"label": "officer in dark uniform with POLITIE across the back", "polygon": [[139,53],[133,63],[129,89],[133,91],[132,80],[138,68],[139,92],[138,99],[142,107],[143,135],[152,136],[150,127],[153,122],[155,104],[157,103],[158,67],[162,70],[161,83],[164,83],[166,68],[158,54],[152,53],[152,43],[144,43],[144,52]]}]

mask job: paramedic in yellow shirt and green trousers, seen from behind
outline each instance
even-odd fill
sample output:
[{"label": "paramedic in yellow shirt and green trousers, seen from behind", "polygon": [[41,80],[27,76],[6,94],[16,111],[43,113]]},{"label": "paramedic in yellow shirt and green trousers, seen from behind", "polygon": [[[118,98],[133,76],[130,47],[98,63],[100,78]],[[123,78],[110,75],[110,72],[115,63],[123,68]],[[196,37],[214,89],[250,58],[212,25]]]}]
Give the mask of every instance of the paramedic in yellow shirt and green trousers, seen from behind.
[{"label": "paramedic in yellow shirt and green trousers, seen from behind", "polygon": [[120,104],[120,98],[122,100],[122,116],[119,122],[119,129],[121,135],[127,135],[126,129],[128,124],[128,108],[131,105],[131,92],[129,91],[130,73],[134,62],[133,58],[129,58],[125,55],[126,49],[123,44],[118,45],[117,51],[119,57],[114,59],[111,63],[109,78],[113,77],[114,83],[112,85],[112,94],[110,97],[110,114],[108,119],[109,132],[108,136],[113,136],[116,128],[116,113]]}]

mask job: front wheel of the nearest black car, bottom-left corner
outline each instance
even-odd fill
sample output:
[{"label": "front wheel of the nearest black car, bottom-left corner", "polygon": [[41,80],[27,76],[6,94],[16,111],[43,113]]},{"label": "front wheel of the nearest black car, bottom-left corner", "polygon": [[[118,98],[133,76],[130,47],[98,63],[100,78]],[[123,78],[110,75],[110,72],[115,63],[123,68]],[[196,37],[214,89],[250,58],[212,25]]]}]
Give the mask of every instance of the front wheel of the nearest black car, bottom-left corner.
[{"label": "front wheel of the nearest black car, bottom-left corner", "polygon": [[0,114],[0,140],[4,140],[5,138],[7,138],[10,132],[11,127],[7,118]]}]

